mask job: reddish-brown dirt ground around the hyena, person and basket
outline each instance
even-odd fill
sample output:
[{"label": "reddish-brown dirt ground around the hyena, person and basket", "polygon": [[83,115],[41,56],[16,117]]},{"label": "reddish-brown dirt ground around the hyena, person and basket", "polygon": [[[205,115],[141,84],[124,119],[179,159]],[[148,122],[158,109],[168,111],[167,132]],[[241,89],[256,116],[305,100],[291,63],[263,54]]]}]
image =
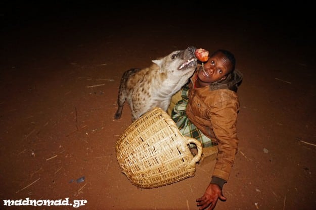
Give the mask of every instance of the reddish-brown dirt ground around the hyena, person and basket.
[{"label": "reddish-brown dirt ground around the hyena, person and basket", "polygon": [[231,50],[244,74],[239,152],[223,189],[227,201],[215,209],[314,209],[312,14],[116,4],[2,12],[0,209],[74,208],[3,201],[26,198],[86,200],[79,209],[197,209],[214,161],[197,165],[192,178],[141,189],[121,173],[115,154],[131,123],[126,104],[114,120],[123,72],[191,45]]}]

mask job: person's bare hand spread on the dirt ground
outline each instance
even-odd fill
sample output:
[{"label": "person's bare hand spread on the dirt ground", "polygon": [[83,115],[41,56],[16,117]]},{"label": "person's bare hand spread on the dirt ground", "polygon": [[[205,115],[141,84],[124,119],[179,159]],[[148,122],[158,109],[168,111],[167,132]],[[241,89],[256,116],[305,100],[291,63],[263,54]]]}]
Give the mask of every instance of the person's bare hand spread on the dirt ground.
[{"label": "person's bare hand spread on the dirt ground", "polygon": [[218,198],[223,201],[226,200],[219,186],[217,184],[210,183],[206,188],[204,195],[196,199],[196,205],[200,206],[200,210],[205,209],[207,206],[210,206],[208,210],[211,210],[215,208]]}]

